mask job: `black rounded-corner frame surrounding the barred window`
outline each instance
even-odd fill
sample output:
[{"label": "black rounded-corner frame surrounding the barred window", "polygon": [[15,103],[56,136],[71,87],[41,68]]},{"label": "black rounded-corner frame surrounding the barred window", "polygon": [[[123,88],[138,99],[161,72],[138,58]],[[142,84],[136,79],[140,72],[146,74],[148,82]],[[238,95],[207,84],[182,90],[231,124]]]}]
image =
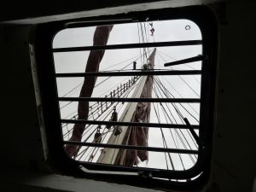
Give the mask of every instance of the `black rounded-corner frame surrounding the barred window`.
[{"label": "black rounded-corner frame surrounding the barred window", "polygon": [[[135,21],[149,20],[175,20],[188,19],[196,23],[201,29],[203,41],[203,55],[207,55],[207,60],[202,61],[202,71],[206,73],[201,76],[201,128],[200,135],[203,138],[204,148],[199,148],[198,160],[191,169],[185,171],[168,171],[163,174],[172,174],[177,179],[187,179],[200,174],[195,180],[185,183],[177,183],[150,177],[134,177],[120,175],[99,175],[86,174],[79,168],[80,163],[72,160],[63,148],[61,135],[61,121],[59,104],[57,98],[55,82],[55,66],[52,55],[52,40],[61,29],[67,27],[96,26],[104,24],[117,24]],[[118,20],[116,20],[118,19]],[[127,20],[131,19],[131,20]],[[86,20],[86,22],[84,22]],[[101,20],[101,21],[97,21]],[[83,21],[83,22],[80,22]],[[218,29],[215,16],[211,10],[205,6],[191,6],[173,9],[157,9],[129,14],[99,16],[79,20],[64,20],[38,25],[34,32],[34,46],[38,69],[38,83],[40,96],[42,99],[42,110],[44,114],[44,125],[49,150],[49,164],[57,172],[76,177],[94,178],[113,183],[125,183],[153,189],[200,189],[207,183],[211,172],[212,142],[215,119],[215,96],[216,96],[216,77],[217,77],[217,48],[218,48]],[[203,69],[204,67],[204,69]],[[55,83],[53,83],[55,82]],[[59,127],[60,129],[56,128]],[[106,166],[86,164],[86,168],[102,171],[132,171],[129,167]],[[157,175],[155,175],[157,177]]]}]

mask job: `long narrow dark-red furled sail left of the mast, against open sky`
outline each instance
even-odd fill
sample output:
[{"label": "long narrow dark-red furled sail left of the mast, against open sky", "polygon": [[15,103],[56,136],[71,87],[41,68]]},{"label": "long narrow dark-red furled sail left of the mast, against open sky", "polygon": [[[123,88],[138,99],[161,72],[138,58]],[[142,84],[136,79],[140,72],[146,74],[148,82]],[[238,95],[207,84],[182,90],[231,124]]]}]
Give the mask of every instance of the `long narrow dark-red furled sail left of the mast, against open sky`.
[{"label": "long narrow dark-red furled sail left of the mast, against open sky", "polygon": [[[109,33],[111,32],[113,25],[109,26],[96,26],[96,31],[93,37],[93,45],[106,45],[108,43]],[[98,72],[100,62],[105,53],[104,49],[91,50],[85,67],[85,73]],[[96,84],[96,77],[84,77],[84,84],[81,88],[79,97],[90,97],[93,88]],[[88,119],[89,102],[80,101],[78,107],[78,119]],[[85,124],[75,124],[73,126],[73,134],[69,141],[80,142]],[[78,152],[78,147],[75,145],[66,146],[67,153],[74,156]]]}]

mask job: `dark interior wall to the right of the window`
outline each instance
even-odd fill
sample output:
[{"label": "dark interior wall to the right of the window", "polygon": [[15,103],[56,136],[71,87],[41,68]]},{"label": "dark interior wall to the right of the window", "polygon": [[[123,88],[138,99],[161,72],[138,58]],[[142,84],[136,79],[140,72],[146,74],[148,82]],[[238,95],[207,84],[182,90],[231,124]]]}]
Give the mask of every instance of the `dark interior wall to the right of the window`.
[{"label": "dark interior wall to the right of the window", "polygon": [[252,191],[256,176],[256,55],[253,1],[227,3],[220,26],[213,178],[220,191]]}]

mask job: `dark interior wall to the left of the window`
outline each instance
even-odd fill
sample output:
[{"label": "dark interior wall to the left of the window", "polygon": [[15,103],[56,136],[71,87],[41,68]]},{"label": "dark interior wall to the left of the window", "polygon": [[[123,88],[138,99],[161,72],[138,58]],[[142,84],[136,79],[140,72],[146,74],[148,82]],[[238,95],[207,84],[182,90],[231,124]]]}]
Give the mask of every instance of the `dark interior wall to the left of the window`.
[{"label": "dark interior wall to the left of the window", "polygon": [[43,159],[28,51],[29,27],[0,28],[3,168],[28,167]]}]

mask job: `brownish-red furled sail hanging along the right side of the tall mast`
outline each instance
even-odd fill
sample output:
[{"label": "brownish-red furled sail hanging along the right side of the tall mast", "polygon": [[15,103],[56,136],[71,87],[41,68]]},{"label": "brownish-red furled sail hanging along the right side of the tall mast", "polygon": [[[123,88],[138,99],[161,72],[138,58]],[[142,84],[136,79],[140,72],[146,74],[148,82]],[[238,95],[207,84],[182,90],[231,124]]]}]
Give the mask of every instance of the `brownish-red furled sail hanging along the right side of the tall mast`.
[{"label": "brownish-red furled sail hanging along the right side of the tall mast", "polygon": [[[154,56],[156,49],[149,56],[149,63],[144,65],[144,70],[154,69]],[[141,98],[152,97],[153,76],[147,77],[146,82],[143,86],[143,92]],[[150,119],[150,102],[138,102],[137,108],[132,114],[131,122],[149,123]],[[135,145],[135,146],[148,146],[148,127],[134,127],[130,126],[125,132],[125,138],[123,145]],[[137,150],[119,150],[119,154],[115,161],[116,165],[121,166],[136,166],[138,158],[142,161],[148,160],[148,151],[137,151]]]}]

